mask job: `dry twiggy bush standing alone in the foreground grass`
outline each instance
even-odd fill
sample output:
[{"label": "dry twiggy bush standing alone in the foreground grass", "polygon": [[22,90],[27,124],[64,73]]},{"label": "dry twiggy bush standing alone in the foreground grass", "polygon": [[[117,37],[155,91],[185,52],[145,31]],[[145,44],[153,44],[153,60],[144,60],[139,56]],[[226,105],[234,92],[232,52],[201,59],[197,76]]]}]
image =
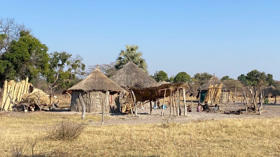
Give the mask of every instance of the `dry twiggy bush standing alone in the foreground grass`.
[{"label": "dry twiggy bush standing alone in the foreground grass", "polygon": [[45,127],[48,138],[52,140],[68,140],[72,141],[78,138],[84,131],[85,125],[71,121],[61,121],[52,126]]}]

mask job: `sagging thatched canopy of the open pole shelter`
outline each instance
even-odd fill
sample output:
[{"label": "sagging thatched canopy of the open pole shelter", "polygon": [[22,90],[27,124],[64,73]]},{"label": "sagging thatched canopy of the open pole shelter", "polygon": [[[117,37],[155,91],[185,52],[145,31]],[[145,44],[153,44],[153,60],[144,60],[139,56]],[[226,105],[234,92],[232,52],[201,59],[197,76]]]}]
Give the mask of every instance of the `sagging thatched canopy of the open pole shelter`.
[{"label": "sagging thatched canopy of the open pole shelter", "polygon": [[135,95],[136,101],[156,101],[158,99],[162,99],[164,97],[164,90],[166,89],[165,97],[169,97],[172,92],[175,92],[177,88],[189,88],[188,83],[178,82],[178,83],[166,83],[157,87],[148,87],[148,88],[137,88],[137,87],[129,87]]}]

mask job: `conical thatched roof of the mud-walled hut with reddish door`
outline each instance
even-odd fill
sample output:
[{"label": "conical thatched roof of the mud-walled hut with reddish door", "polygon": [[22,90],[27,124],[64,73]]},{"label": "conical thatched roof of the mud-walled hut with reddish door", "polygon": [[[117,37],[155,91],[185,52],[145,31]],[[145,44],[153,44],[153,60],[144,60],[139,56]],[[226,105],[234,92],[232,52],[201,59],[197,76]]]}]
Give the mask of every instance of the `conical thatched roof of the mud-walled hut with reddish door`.
[{"label": "conical thatched roof of the mud-walled hut with reddish door", "polygon": [[98,68],[98,65],[96,69],[88,75],[83,81],[77,83],[76,85],[72,86],[68,90],[83,90],[85,92],[90,91],[115,91],[120,92],[123,91],[123,88],[121,88],[117,83],[109,79],[107,76],[105,76],[100,69]]}]

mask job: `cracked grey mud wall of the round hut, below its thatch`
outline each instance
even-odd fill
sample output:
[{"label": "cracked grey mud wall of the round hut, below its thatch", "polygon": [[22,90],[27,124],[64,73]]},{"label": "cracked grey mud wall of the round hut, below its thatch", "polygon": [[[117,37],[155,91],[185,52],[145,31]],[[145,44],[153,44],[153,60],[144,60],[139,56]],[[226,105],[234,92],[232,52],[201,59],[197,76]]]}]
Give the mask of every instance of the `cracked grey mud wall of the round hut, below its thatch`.
[{"label": "cracked grey mud wall of the round hut, below its thatch", "polygon": [[[84,92],[82,90],[72,91],[70,111],[82,112],[82,106],[78,99],[80,93],[85,103],[86,112],[102,112],[102,101],[105,103],[105,92]],[[105,112],[108,113],[109,106],[104,107]]]}]

